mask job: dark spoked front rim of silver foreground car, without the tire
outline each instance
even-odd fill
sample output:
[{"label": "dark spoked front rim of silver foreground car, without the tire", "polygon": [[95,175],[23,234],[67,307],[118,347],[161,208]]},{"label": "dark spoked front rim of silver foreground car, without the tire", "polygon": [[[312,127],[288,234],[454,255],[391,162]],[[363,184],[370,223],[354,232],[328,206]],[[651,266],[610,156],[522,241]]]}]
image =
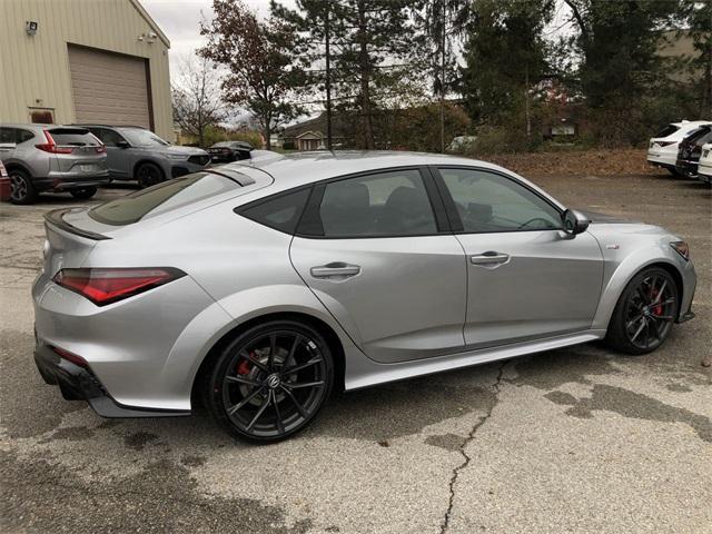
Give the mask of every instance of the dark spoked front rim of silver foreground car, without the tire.
[{"label": "dark spoked front rim of silver foreground car, without the tire", "polygon": [[672,280],[659,275],[643,278],[625,303],[629,342],[645,350],[660,345],[670,334],[676,309]]}]

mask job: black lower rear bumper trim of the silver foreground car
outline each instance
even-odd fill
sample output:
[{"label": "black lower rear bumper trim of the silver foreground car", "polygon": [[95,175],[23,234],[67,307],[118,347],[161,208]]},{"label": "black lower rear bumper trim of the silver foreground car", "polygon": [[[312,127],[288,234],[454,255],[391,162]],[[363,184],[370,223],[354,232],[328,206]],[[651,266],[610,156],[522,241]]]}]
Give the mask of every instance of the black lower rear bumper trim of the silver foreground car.
[{"label": "black lower rear bumper trim of the silver foreground car", "polygon": [[190,415],[190,412],[146,409],[117,403],[91,369],[61,358],[49,345],[38,342],[34,365],[42,379],[59,389],[67,400],[86,400],[102,417],[166,417]]}]

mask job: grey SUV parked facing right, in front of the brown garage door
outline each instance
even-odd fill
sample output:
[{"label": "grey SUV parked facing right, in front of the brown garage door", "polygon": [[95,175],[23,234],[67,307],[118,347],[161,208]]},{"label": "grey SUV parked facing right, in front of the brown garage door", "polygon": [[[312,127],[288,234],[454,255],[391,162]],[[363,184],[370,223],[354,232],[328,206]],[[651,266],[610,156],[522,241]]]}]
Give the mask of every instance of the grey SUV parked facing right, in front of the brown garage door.
[{"label": "grey SUV parked facing right, in front of the brown garage door", "polygon": [[138,126],[82,125],[107,147],[109,175],[137,180],[140,187],[202,170],[209,162],[201,148],[171,145]]}]

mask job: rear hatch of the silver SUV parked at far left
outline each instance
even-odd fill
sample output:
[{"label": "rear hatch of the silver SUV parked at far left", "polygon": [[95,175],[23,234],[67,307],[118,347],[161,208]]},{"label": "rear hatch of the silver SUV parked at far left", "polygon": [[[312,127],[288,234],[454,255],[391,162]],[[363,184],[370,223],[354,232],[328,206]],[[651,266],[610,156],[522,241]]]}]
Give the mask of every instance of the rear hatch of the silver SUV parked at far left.
[{"label": "rear hatch of the silver SUV parked at far left", "polygon": [[53,155],[51,170],[78,175],[106,170],[106,148],[86,128],[52,127],[43,135],[46,142],[37,148]]}]

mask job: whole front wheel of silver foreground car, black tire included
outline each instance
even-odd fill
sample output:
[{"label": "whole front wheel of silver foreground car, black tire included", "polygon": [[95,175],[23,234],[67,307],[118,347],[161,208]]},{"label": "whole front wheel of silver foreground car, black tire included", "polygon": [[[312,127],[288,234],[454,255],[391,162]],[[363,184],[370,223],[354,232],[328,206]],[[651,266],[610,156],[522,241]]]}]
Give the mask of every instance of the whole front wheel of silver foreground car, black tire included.
[{"label": "whole front wheel of silver foreground car, black tire included", "polygon": [[678,286],[670,273],[659,267],[643,269],[621,294],[605,344],[634,356],[652,353],[668,339],[679,307]]}]

